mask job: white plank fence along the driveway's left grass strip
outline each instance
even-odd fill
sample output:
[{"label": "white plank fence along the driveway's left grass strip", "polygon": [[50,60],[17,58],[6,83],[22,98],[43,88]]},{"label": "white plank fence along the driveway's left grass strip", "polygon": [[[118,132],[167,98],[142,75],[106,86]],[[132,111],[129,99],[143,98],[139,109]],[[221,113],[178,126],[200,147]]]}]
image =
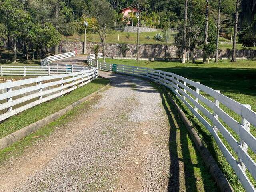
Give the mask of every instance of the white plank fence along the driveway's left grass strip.
[{"label": "white plank fence along the driveway's left grass strip", "polygon": [[38,76],[0,84],[0,122],[40,103],[62,96],[98,77],[98,68]]}]

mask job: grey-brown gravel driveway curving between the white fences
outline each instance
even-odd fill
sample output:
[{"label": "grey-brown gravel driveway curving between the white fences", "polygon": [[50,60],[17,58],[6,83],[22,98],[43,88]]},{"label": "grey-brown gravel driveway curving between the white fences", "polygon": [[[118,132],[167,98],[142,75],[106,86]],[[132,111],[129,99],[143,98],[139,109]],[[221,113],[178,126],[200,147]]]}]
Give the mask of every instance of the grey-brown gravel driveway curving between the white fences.
[{"label": "grey-brown gravel driveway curving between the white fences", "polygon": [[112,84],[88,108],[0,166],[1,192],[161,192],[172,186],[170,124],[160,93],[146,80],[101,76]]}]

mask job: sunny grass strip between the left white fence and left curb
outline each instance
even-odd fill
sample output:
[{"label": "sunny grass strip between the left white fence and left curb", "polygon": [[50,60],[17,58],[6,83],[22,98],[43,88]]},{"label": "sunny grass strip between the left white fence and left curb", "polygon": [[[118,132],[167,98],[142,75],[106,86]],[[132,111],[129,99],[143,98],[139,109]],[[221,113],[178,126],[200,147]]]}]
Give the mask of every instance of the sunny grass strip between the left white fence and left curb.
[{"label": "sunny grass strip between the left white fence and left curb", "polygon": [[66,106],[80,100],[89,94],[99,90],[106,84],[108,84],[109,80],[105,78],[98,78],[86,86],[78,88],[72,91],[70,94],[56,98],[50,102],[42,103],[38,106],[35,106],[31,109],[28,109],[24,112],[16,116],[12,116],[8,120],[2,122],[0,124],[0,138],[15,132],[25,126],[28,126],[38,120],[45,118],[46,116],[57,112]]}]

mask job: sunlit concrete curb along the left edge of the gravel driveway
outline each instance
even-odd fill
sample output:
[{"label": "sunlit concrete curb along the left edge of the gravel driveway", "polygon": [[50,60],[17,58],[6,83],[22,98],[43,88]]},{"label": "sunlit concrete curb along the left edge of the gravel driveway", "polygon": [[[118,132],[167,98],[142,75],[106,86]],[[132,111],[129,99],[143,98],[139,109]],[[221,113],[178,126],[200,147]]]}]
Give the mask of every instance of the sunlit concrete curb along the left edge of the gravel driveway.
[{"label": "sunlit concrete curb along the left edge of the gravel driveway", "polygon": [[[110,80],[110,79],[109,79]],[[66,108],[57,111],[54,114],[51,114],[49,116],[47,116],[46,118],[43,118],[42,120],[39,120],[37,122],[34,122],[32,124],[30,124],[29,126],[26,126],[20,130],[17,130],[16,132],[5,136],[4,138],[0,139],[0,150],[4,149],[10,145],[12,145],[14,142],[32,134],[33,132],[35,132],[36,130],[42,128],[43,126],[55,121],[56,119],[60,118],[61,116],[63,116],[64,114],[66,114],[67,112],[69,112],[71,109],[75,108],[76,106],[82,104],[83,102],[85,102],[86,100],[92,98],[94,95],[96,95],[98,92],[104,90],[107,86],[110,85],[110,83],[112,82],[112,80],[110,80],[110,82],[105,85],[104,87],[100,88],[99,90],[97,90],[96,92],[78,100],[77,102],[74,102],[73,104],[67,106]]]}]

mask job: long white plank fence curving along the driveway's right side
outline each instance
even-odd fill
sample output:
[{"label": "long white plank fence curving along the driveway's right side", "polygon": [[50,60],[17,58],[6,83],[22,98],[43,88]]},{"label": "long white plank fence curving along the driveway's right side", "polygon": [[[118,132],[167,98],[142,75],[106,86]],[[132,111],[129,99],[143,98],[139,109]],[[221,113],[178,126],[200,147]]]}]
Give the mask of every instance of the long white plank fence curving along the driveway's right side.
[{"label": "long white plank fence curving along the driveway's right side", "polygon": [[[170,88],[212,134],[218,147],[246,191],[256,191],[245,173],[248,170],[253,178],[256,179],[256,163],[248,154],[248,147],[252,150],[252,153],[256,153],[256,138],[250,133],[250,124],[254,127],[256,126],[256,113],[251,110],[251,106],[240,104],[224,96],[220,91],[213,90],[210,87],[174,73],[150,68],[106,63],[100,63],[99,68],[101,70],[147,78]],[[203,96],[202,92],[212,96],[214,101]],[[241,121],[238,122],[228,112],[225,112],[223,108],[220,108],[220,103],[238,114]],[[204,107],[204,105],[212,112]],[[236,140],[230,133],[230,128],[239,136],[239,140]],[[239,157],[238,159],[234,158],[218,133],[222,134]]]}]

